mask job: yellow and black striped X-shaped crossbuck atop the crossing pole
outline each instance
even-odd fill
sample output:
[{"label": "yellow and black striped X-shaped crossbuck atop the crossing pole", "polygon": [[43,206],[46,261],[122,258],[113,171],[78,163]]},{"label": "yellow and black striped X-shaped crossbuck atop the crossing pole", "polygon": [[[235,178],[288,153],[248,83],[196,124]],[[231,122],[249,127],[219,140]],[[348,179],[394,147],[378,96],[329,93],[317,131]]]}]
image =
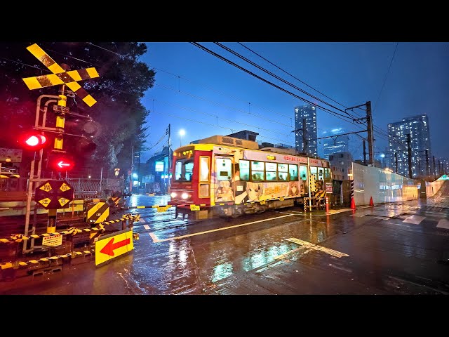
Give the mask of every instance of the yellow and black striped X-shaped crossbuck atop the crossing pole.
[{"label": "yellow and black striped X-shaped crossbuck atop the crossing pole", "polygon": [[53,60],[45,51],[37,44],[32,44],[27,47],[28,51],[32,53],[39,61],[43,63],[53,74],[41,75],[36,77],[27,77],[23,79],[27,87],[32,89],[39,89],[46,86],[56,86],[58,84],[67,85],[79,98],[84,101],[89,107],[97,103],[97,101],[79,84],[78,81],[84,79],[93,79],[100,77],[95,68],[86,68],[81,70],[70,70],[66,72],[58,63]]}]

